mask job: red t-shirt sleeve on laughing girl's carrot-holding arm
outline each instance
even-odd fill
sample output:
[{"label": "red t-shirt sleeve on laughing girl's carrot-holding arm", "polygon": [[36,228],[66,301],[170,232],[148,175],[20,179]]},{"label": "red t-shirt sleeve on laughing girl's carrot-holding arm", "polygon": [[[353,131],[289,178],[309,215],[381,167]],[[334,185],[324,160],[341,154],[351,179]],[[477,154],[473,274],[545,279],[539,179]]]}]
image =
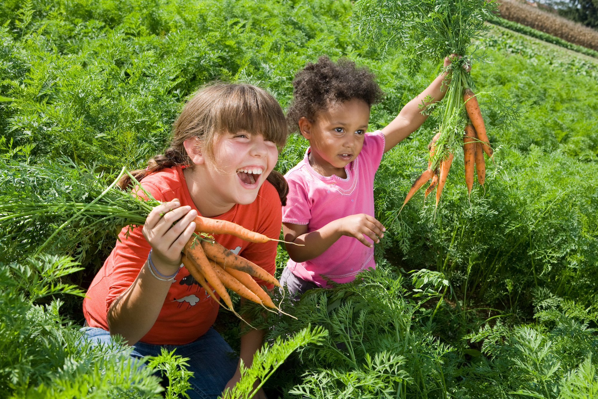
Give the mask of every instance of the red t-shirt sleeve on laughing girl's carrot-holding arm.
[{"label": "red t-shirt sleeve on laughing girl's carrot-holding arm", "polygon": [[[141,185],[158,201],[164,201],[162,192],[152,183]],[[140,197],[145,197],[138,191]],[[137,278],[139,271],[148,258],[151,246],[142,233],[143,226],[133,229],[124,227],[118,234],[118,241],[112,253],[106,259],[106,273],[109,273],[110,285],[106,297],[106,312],[112,302],[129,288]]]}]

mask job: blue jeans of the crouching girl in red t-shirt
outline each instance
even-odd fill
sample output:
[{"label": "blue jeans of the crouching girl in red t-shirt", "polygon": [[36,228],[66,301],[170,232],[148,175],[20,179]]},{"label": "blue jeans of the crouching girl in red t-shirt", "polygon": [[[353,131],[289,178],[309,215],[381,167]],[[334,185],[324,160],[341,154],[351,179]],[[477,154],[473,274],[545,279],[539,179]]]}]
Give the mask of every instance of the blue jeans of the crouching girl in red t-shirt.
[{"label": "blue jeans of the crouching girl in red t-shirt", "polygon": [[[102,328],[86,327],[85,334],[97,343],[109,343],[111,340],[109,331]],[[163,347],[169,352],[176,349],[175,355],[189,358],[187,370],[194,373],[189,379],[191,389],[187,391],[190,399],[218,398],[237,370],[239,360],[233,349],[212,327],[188,344],[157,345],[139,341],[133,347],[135,349],[131,356],[135,358],[160,355]]]}]

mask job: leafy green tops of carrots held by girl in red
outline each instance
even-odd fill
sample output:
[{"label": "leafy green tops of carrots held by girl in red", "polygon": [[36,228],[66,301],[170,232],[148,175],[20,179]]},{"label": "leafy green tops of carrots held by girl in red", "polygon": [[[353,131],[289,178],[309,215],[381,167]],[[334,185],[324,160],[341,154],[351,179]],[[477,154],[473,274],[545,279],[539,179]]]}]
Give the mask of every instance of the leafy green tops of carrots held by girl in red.
[{"label": "leafy green tops of carrots held by girl in red", "polygon": [[69,159],[30,164],[7,157],[0,165],[0,261],[19,261],[44,248],[77,261],[105,254],[105,240],[111,248],[120,228],[143,224],[158,204],[114,187],[124,169],[114,179]]}]

